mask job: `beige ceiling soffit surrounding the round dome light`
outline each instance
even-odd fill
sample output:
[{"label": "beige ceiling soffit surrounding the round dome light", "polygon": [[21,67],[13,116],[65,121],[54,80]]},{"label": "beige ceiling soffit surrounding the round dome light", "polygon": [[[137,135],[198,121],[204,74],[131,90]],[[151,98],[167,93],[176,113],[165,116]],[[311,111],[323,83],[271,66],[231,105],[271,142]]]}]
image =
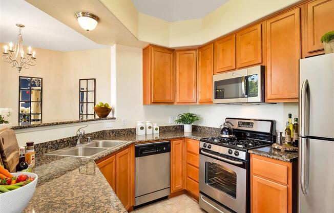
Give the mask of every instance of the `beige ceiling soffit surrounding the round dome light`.
[{"label": "beige ceiling soffit surrounding the round dome light", "polygon": [[[120,44],[138,48],[147,45],[146,42],[138,41],[99,0],[26,0],[26,2],[98,44],[108,46]],[[77,12],[97,15],[100,20],[96,28],[89,32],[83,30],[75,18]]]}]

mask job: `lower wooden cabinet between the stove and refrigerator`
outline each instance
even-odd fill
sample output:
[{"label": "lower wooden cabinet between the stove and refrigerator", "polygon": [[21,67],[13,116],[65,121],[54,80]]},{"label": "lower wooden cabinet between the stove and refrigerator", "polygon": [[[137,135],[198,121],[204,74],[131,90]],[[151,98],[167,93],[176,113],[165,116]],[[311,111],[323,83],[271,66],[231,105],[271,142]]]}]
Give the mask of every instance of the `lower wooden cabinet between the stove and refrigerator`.
[{"label": "lower wooden cabinet between the stove and refrigerator", "polygon": [[296,212],[296,172],[295,162],[251,154],[251,212]]}]

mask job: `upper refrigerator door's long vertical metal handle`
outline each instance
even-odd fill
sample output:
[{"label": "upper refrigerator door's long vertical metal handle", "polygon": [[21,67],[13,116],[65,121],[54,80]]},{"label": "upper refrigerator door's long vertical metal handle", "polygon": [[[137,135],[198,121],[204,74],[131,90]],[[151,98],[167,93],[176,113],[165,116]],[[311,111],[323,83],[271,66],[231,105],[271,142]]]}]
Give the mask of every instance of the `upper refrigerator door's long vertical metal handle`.
[{"label": "upper refrigerator door's long vertical metal handle", "polygon": [[307,118],[307,110],[306,107],[308,104],[307,101],[307,87],[308,87],[308,80],[305,79],[300,94],[300,102],[299,102],[299,109],[300,109],[300,136],[306,137],[308,135],[308,122],[309,119]]}]

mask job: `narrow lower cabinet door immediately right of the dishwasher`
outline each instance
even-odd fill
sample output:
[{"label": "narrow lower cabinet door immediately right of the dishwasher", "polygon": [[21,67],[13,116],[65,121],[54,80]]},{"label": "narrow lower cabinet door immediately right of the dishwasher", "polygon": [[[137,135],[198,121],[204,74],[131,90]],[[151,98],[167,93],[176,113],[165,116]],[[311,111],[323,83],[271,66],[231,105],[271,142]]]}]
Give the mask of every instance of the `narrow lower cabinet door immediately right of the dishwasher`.
[{"label": "narrow lower cabinet door immediately right of the dishwasher", "polygon": [[185,162],[183,139],[171,142],[171,193],[184,189],[185,185]]}]

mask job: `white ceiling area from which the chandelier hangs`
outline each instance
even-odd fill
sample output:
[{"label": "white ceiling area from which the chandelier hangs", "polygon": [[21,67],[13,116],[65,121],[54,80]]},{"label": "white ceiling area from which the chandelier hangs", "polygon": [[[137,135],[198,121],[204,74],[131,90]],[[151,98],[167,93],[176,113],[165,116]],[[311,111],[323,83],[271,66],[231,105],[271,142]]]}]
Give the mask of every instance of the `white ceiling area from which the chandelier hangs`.
[{"label": "white ceiling area from which the chandelier hangs", "polygon": [[0,42],[16,42],[18,27],[22,29],[24,45],[35,48],[74,51],[106,48],[62,24],[47,13],[23,0],[0,1]]}]

